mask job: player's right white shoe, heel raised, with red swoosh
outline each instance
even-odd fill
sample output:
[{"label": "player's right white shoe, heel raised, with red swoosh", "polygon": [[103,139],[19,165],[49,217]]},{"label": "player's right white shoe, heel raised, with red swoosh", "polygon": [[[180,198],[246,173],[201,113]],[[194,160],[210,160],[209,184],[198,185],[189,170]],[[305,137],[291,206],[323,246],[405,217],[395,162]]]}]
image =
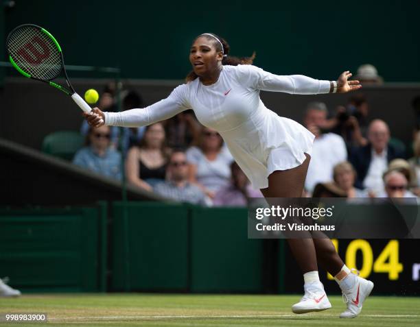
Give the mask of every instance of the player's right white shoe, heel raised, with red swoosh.
[{"label": "player's right white shoe, heel raised, with red swoosh", "polygon": [[355,276],[355,282],[350,289],[342,289],[342,298],[347,304],[347,309],[340,314],[340,318],[354,318],[362,311],[364,300],[373,289],[373,282],[360,276]]}]

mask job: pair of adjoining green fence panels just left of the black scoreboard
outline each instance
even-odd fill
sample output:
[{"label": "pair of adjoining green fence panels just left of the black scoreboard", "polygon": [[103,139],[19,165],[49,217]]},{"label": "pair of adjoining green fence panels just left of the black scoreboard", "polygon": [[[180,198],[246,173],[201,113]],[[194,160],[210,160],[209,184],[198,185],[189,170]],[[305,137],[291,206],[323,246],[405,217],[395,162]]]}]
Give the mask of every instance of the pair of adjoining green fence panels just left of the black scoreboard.
[{"label": "pair of adjoining green fence panels just left of the black scoreboard", "polygon": [[[245,208],[113,204],[113,291],[261,291],[261,240]],[[128,259],[128,260],[127,260]]]}]

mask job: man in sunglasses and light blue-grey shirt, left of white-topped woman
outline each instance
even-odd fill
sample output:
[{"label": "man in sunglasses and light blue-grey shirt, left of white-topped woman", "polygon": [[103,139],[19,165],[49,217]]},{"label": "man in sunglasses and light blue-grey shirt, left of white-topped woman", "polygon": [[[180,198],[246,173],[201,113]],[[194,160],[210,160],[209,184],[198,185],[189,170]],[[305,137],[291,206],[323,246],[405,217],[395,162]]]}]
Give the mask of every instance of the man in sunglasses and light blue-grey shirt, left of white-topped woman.
[{"label": "man in sunglasses and light blue-grey shirt, left of white-topped woman", "polygon": [[211,200],[206,197],[198,186],[188,182],[188,165],[185,152],[175,150],[170,156],[167,165],[166,182],[160,182],[154,186],[154,191],[168,199],[191,204],[209,205]]}]

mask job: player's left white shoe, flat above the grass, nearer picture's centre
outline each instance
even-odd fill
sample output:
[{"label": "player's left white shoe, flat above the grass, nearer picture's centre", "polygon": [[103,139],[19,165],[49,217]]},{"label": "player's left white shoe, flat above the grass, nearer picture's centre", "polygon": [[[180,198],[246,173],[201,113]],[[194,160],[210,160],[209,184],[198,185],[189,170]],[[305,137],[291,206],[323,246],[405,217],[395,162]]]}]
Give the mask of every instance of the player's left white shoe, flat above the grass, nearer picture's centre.
[{"label": "player's left white shoe, flat above the grass, nearer picture's centre", "polygon": [[305,289],[305,295],[298,303],[292,305],[294,313],[323,311],[331,308],[331,303],[329,303],[321,282],[307,283],[303,288]]}]

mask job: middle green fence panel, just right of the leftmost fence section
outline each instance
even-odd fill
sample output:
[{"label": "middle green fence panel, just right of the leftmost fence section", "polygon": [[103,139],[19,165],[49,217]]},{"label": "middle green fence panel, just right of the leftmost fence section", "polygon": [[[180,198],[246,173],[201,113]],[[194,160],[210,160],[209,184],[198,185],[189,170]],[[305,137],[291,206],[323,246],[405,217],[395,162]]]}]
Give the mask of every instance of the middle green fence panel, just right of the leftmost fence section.
[{"label": "middle green fence panel, just right of the leftmost fence section", "polygon": [[189,276],[188,206],[113,204],[113,291],[186,291]]}]

